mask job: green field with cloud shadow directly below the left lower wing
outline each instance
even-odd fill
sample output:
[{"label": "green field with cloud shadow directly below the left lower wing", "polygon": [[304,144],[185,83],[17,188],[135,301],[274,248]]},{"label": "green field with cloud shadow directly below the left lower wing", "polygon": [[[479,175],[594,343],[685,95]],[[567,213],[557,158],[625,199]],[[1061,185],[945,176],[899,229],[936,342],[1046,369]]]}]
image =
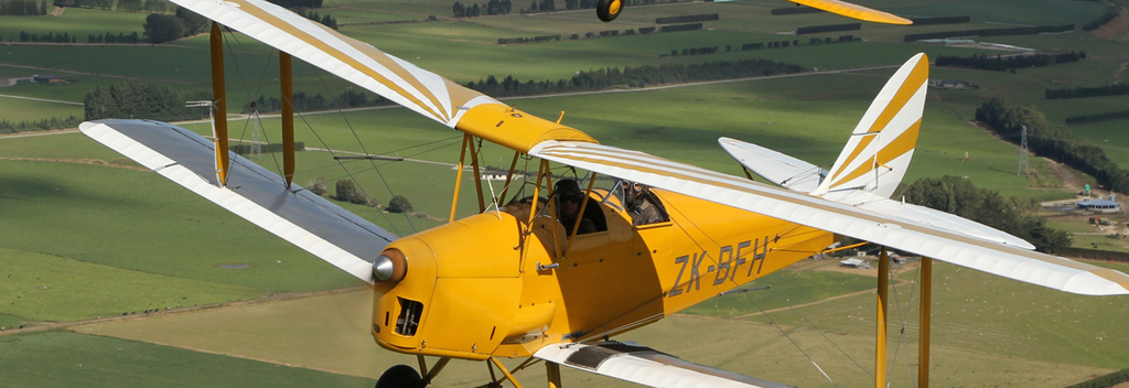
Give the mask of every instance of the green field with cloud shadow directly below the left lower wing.
[{"label": "green field with cloud shadow directly below the left lower wing", "polygon": [[7,203],[0,247],[215,286],[300,292],[359,284],[152,173],[0,161],[0,201]]}]

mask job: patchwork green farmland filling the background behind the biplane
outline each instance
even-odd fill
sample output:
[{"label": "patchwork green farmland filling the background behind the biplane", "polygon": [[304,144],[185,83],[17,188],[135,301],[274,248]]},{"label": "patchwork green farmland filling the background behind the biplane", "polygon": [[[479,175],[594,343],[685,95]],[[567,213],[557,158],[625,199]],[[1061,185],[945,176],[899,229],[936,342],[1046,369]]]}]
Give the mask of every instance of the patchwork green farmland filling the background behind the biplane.
[{"label": "patchwork green farmland filling the background behind the biplane", "polygon": [[[901,43],[905,34],[997,28],[1001,24],[1080,26],[1106,9],[1099,2],[1061,0],[859,2],[914,17],[971,15],[972,23],[922,27],[864,24],[863,29],[848,33],[780,35],[800,26],[847,21],[826,14],[770,16],[771,8],[788,3],[767,0],[631,7],[614,24],[595,21],[590,10],[453,19],[453,0],[330,0],[318,12],[333,15],[347,35],[462,83],[488,76],[557,80],[599,68],[746,58],[821,71],[884,67],[506,100],[546,118],[563,111],[563,124],[605,144],[741,175],[739,166],[717,147],[718,136],[750,141],[826,167],[893,72],[892,65],[922,51],[931,58],[1016,53],[986,46]],[[519,7],[527,5],[515,3],[515,14]],[[654,26],[656,17],[714,12],[721,15],[720,20],[697,32],[497,44],[501,37],[583,37],[607,29],[624,33]],[[438,19],[423,21],[430,15]],[[80,103],[95,87],[130,79],[160,82],[174,91],[208,89],[207,36],[163,45],[84,44],[88,34],[140,33],[143,19],[145,14],[80,8],[69,8],[61,17],[0,16],[5,41],[0,45],[0,78],[56,74],[68,80],[62,85],[21,81],[0,88],[0,95]],[[419,21],[380,24],[391,20]],[[78,36],[78,44],[9,43],[20,30],[67,32]],[[808,44],[809,37],[847,34],[865,41]],[[725,46],[794,39],[802,45],[725,52]],[[1035,106],[1052,123],[1061,124],[1067,116],[1124,109],[1129,96],[1048,100],[1043,90],[1118,80],[1123,76],[1119,68],[1129,62],[1127,43],[1082,30],[977,41],[1045,53],[1086,51],[1089,58],[1015,73],[931,69],[931,78],[956,79],[980,88],[929,90],[914,162],[905,180],[957,175],[1005,195],[1070,197],[1073,193],[1041,158],[1031,159],[1038,178],[1017,176],[1017,147],[972,125],[973,111],[988,98],[1003,97],[1016,105]],[[277,96],[277,53],[239,34],[228,35],[227,43],[230,109],[238,112],[244,102],[260,95]],[[707,46],[721,50],[709,55],[660,56]],[[350,86],[297,61],[295,87],[310,95],[336,96]],[[0,120],[67,115],[81,116],[82,107],[0,97]],[[231,134],[243,141],[257,138],[277,142],[278,123],[277,117],[257,123],[233,121]],[[352,178],[380,204],[393,194],[408,196],[414,214],[334,201],[399,236],[446,221],[461,133],[396,107],[344,115],[304,114],[297,123],[298,141],[307,148],[412,159],[339,164],[331,152],[307,150],[298,153],[298,184],[324,178],[332,194],[334,182]],[[1070,130],[1129,167],[1129,136],[1122,133],[1126,123],[1075,125]],[[207,123],[183,125],[202,134],[211,132]],[[254,135],[255,125],[261,126],[259,136]],[[481,158],[489,166],[506,166],[511,157],[513,151],[487,144]],[[279,164],[269,153],[254,160],[269,169]],[[463,174],[470,177],[470,173]],[[465,183],[460,193],[460,217],[478,210],[475,194]],[[498,189],[499,184],[484,189]],[[412,358],[380,350],[368,335],[371,293],[357,289],[362,283],[139,169],[81,134],[0,138],[0,279],[5,279],[0,282],[0,327],[10,330],[20,325],[120,317],[62,330],[0,332],[0,370],[6,371],[0,386],[357,387],[371,386],[392,364],[414,363]],[[1065,227],[1087,230],[1073,223]],[[1121,252],[1127,245],[1099,236],[1079,236],[1075,241],[1075,246],[1100,244]],[[805,262],[751,284],[770,284],[771,291],[720,297],[616,340],[638,341],[686,360],[769,380],[831,386],[793,346],[795,341],[840,386],[865,386],[874,368],[874,274],[833,267],[830,261]],[[892,321],[908,317],[904,336],[890,338],[894,386],[911,382],[908,369],[916,362],[908,358],[917,352],[916,274],[912,264],[902,268],[894,285],[896,298],[892,296]],[[1129,306],[1123,297],[1062,294],[945,264],[938,264],[935,282],[935,386],[1061,387],[1129,367],[1124,364],[1129,334],[1118,329],[1126,325]],[[342,289],[351,291],[322,293]],[[316,296],[262,301],[299,293]],[[260,302],[215,307],[255,300]],[[204,308],[198,308],[201,306]],[[134,314],[166,308],[168,314]],[[890,327],[895,334],[900,328],[893,323]],[[826,337],[863,367],[843,356]],[[44,365],[61,367],[46,370]],[[437,386],[482,383],[487,373],[481,367],[452,363]],[[11,370],[20,372],[7,372]],[[523,382],[537,385],[544,372],[539,367],[526,373]],[[627,386],[572,370],[566,370],[564,380],[568,386]]]}]

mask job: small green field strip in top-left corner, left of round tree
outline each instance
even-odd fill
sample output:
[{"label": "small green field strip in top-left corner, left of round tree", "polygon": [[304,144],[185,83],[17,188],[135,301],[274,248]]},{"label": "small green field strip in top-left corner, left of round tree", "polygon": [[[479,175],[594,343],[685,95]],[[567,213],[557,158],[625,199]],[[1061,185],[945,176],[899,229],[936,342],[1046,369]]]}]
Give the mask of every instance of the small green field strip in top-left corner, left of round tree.
[{"label": "small green field strip in top-left corner, left of round tree", "polygon": [[[45,16],[0,16],[0,37],[3,37],[5,42],[9,42],[9,39],[19,42],[20,32],[40,34],[41,36],[47,33],[54,33],[54,35],[67,33],[78,39],[76,43],[86,43],[88,35],[106,33],[113,33],[116,36],[119,33],[130,35],[137,32],[140,37],[145,33],[142,25],[146,16],[148,14],[75,7],[67,8],[60,16],[51,16],[50,10]],[[11,46],[5,48],[9,47]]]}]

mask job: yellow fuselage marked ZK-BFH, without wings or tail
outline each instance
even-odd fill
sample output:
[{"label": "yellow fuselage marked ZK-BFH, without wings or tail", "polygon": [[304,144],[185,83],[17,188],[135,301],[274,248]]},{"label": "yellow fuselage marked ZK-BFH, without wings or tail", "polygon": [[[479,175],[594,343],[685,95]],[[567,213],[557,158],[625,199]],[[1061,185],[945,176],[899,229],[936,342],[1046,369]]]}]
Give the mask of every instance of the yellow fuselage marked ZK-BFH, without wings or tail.
[{"label": "yellow fuselage marked ZK-BFH, without wings or tail", "polygon": [[[671,192],[669,221],[632,226],[621,199],[589,194],[606,231],[576,236],[551,212],[507,208],[388,245],[406,273],[374,286],[373,336],[388,350],[483,360],[616,335],[819,253],[832,235]],[[507,211],[509,210],[509,211]],[[571,226],[567,226],[571,228]]]}]

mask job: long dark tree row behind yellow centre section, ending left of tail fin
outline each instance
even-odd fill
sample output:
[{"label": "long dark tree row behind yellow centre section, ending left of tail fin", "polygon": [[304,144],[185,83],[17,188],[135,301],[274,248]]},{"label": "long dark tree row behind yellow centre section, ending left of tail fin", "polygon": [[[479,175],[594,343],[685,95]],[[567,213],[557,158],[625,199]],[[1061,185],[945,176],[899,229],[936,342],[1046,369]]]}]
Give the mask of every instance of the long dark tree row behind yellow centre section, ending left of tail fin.
[{"label": "long dark tree row behind yellow centre section, ending left of tail fin", "polygon": [[706,62],[701,64],[669,63],[662,65],[624,67],[580,71],[569,79],[557,81],[519,81],[513,76],[499,81],[493,76],[478,82],[466,83],[467,88],[495,97],[527,96],[550,92],[598,90],[611,87],[645,87],[648,85],[707,81],[717,79],[746,78],[795,73],[806,70],[798,64],[770,60],[745,59],[737,61]]}]

